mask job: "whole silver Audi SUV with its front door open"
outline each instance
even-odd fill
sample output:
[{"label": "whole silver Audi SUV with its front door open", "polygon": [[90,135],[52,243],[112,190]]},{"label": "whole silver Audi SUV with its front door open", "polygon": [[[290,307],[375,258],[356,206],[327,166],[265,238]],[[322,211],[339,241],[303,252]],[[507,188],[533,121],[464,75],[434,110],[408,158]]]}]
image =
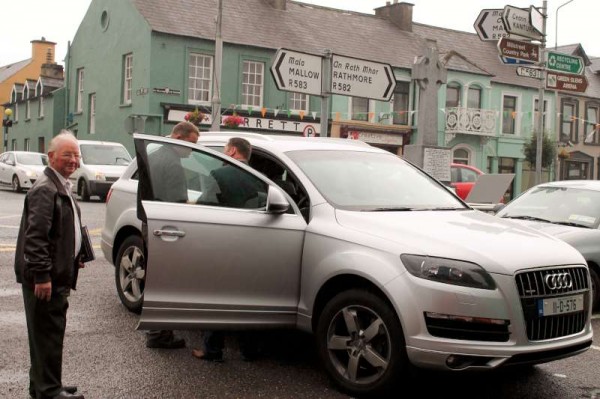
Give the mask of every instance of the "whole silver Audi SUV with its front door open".
[{"label": "whole silver Audi SUV with its front door open", "polygon": [[[112,187],[102,249],[123,303],[142,306],[138,328],[309,331],[352,395],[393,389],[412,365],[486,370],[590,347],[589,273],[570,245],[473,210],[360,142],[239,133],[247,166],[213,150],[230,135],[134,135],[139,171]],[[154,198],[157,148],[187,155],[186,203]],[[204,198],[223,165],[254,181],[253,201]]]}]

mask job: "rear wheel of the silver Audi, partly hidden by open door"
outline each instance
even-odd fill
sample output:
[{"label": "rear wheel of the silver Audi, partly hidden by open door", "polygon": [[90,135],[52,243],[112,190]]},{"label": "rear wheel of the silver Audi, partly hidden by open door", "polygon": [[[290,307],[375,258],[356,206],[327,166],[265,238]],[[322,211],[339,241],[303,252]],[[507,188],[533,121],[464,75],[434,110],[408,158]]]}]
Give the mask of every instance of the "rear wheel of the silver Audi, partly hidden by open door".
[{"label": "rear wheel of the silver Audi, partly hidden by open door", "polygon": [[133,313],[141,313],[144,302],[146,261],[140,236],[130,236],[119,247],[115,260],[115,283],[121,303]]}]

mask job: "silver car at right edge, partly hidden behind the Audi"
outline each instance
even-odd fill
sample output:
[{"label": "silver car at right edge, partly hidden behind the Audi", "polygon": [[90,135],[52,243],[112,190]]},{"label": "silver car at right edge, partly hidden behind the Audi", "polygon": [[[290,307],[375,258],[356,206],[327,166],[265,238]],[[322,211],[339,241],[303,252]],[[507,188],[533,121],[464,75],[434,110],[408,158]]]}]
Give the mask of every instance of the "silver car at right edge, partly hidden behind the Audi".
[{"label": "silver car at right edge, partly hidden behind the Audi", "polygon": [[497,213],[574,246],[585,258],[600,309],[600,181],[565,180],[525,191]]}]

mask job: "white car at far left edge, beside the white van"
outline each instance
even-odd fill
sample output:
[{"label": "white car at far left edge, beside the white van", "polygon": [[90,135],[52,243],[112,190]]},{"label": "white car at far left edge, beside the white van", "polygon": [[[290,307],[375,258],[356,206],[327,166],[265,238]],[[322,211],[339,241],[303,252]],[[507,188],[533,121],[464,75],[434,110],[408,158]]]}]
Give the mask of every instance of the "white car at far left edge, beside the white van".
[{"label": "white car at far left edge, beside the white van", "polygon": [[0,154],[0,185],[15,192],[29,189],[47,165],[48,156],[40,152],[4,152]]}]

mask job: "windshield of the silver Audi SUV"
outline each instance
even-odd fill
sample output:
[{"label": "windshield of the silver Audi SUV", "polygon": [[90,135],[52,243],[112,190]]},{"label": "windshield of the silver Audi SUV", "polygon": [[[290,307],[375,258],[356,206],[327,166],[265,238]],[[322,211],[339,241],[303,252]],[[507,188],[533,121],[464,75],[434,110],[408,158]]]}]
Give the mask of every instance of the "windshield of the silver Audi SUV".
[{"label": "windshield of the silver Audi SUV", "polygon": [[445,187],[393,154],[292,151],[287,155],[327,201],[339,209],[468,209]]}]

